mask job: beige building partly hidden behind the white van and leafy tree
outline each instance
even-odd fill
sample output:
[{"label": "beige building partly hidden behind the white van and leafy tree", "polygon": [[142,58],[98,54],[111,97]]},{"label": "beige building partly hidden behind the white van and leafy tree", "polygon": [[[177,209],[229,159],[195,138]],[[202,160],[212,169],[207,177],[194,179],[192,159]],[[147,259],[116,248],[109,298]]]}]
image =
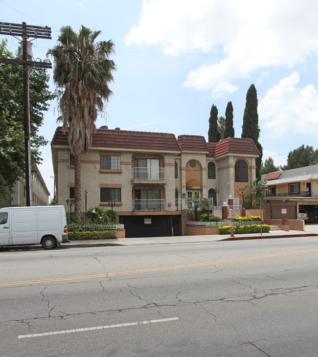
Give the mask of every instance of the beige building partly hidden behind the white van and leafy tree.
[{"label": "beige building partly hidden behind the white van and leafy tree", "polygon": [[[32,206],[47,206],[49,191],[46,187],[44,179],[36,164],[31,165],[32,169]],[[14,193],[8,196],[7,201],[0,198],[0,208],[12,206],[26,206],[25,183],[17,181],[13,187]]]}]

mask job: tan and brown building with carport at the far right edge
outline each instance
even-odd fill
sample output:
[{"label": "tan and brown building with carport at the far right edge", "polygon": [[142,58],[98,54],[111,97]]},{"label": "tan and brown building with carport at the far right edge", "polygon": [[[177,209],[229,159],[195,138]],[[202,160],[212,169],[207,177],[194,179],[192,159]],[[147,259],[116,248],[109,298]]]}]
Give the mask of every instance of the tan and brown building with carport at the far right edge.
[{"label": "tan and brown building with carport at the far right edge", "polygon": [[298,219],[299,209],[308,213],[308,222],[317,223],[318,165],[276,171],[262,175],[269,193],[264,210],[268,219]]}]

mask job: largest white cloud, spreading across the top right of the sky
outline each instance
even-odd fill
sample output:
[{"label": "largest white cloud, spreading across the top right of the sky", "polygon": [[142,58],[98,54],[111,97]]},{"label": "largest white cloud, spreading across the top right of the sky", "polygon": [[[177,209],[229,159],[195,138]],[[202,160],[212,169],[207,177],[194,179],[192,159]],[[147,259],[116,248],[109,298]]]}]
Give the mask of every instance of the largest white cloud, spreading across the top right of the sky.
[{"label": "largest white cloud, spreading across the top right of the sky", "polygon": [[205,58],[184,84],[222,95],[256,69],[292,67],[297,58],[317,54],[317,17],[315,0],[144,0],[126,45],[230,56],[217,63],[218,57]]}]

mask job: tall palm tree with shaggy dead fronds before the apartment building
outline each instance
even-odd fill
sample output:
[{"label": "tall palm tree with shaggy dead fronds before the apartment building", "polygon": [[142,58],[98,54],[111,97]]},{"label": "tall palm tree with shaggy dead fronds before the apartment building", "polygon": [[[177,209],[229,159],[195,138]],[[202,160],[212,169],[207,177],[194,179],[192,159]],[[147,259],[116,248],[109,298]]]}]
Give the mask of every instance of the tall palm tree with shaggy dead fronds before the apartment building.
[{"label": "tall palm tree with shaggy dead fronds before the apartment building", "polygon": [[75,156],[74,198],[75,213],[82,217],[81,204],[81,153],[88,151],[95,121],[103,113],[104,102],[113,94],[108,87],[114,81],[116,69],[113,60],[112,40],[94,42],[101,31],[91,31],[81,26],[78,33],[70,26],[63,26],[58,37],[59,44],[47,51],[54,59],[53,80],[56,84],[58,106],[64,133]]}]

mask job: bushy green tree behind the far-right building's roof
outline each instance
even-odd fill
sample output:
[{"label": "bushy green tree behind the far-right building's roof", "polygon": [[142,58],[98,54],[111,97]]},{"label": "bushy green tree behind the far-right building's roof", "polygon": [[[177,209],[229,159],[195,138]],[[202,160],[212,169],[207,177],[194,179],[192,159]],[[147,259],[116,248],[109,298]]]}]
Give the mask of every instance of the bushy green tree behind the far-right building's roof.
[{"label": "bushy green tree behind the far-right building's roof", "polygon": [[290,151],[287,158],[287,164],[281,166],[282,170],[296,169],[297,167],[304,167],[318,164],[318,149],[313,146],[301,145],[299,148]]}]

